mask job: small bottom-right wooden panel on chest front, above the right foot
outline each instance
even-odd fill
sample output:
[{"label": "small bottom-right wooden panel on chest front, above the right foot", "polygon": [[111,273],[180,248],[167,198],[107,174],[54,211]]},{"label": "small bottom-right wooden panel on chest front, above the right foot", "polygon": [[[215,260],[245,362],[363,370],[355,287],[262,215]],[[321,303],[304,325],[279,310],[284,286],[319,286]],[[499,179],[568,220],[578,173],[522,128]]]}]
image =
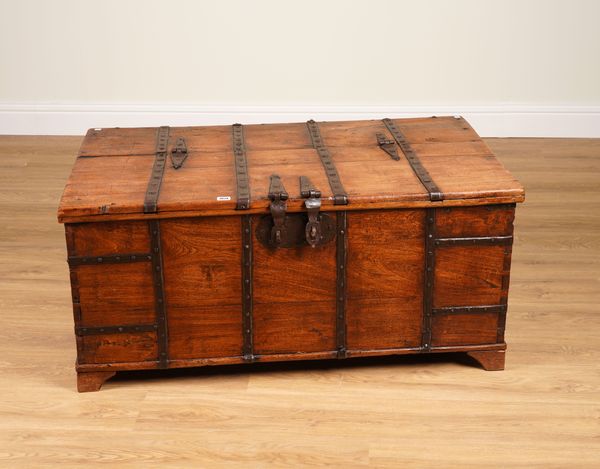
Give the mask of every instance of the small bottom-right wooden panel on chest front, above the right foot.
[{"label": "small bottom-right wooden panel on chest front, above the right foot", "polygon": [[496,343],[498,313],[436,314],[431,327],[434,347]]}]

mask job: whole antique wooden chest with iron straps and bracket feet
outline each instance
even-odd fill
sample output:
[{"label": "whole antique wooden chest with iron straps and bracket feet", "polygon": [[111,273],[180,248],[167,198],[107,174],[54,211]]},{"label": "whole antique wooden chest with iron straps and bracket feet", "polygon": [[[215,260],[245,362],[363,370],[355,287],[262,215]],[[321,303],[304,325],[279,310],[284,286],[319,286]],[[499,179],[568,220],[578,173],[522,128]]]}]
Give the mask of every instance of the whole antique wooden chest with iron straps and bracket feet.
[{"label": "whole antique wooden chest with iron straps and bracket feet", "polygon": [[502,369],[523,200],[462,118],[91,129],[58,210],[78,389],[406,353]]}]

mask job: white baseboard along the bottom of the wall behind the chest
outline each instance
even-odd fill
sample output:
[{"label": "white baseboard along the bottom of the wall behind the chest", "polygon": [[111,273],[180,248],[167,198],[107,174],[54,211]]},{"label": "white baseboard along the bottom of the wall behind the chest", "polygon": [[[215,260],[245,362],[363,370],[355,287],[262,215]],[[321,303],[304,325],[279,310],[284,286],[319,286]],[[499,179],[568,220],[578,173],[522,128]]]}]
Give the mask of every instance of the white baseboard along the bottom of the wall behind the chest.
[{"label": "white baseboard along the bottom of the wall behind the chest", "polygon": [[82,135],[154,127],[461,115],[482,137],[600,137],[600,106],[1,104],[0,134]]}]

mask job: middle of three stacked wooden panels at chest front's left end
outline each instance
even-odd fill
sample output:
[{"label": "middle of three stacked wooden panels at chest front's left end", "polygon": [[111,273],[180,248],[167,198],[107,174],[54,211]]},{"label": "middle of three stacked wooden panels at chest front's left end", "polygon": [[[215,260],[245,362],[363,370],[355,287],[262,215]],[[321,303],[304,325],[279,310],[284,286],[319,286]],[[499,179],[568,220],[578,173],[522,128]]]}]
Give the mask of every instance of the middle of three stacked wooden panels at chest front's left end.
[{"label": "middle of three stacked wooden panels at chest front's left end", "polygon": [[121,326],[155,322],[150,262],[80,265],[81,326]]}]

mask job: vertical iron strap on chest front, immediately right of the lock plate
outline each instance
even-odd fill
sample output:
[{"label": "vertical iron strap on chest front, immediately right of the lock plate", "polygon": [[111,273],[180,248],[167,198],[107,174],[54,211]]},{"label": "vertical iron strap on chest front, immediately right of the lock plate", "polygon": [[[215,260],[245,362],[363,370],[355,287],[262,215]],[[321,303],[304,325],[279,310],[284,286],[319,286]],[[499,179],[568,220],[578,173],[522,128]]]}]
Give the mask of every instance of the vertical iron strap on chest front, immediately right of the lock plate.
[{"label": "vertical iron strap on chest front, immediately right of the lock plate", "polygon": [[347,212],[336,213],[336,348],[337,357],[346,358],[346,265],[348,262]]}]

